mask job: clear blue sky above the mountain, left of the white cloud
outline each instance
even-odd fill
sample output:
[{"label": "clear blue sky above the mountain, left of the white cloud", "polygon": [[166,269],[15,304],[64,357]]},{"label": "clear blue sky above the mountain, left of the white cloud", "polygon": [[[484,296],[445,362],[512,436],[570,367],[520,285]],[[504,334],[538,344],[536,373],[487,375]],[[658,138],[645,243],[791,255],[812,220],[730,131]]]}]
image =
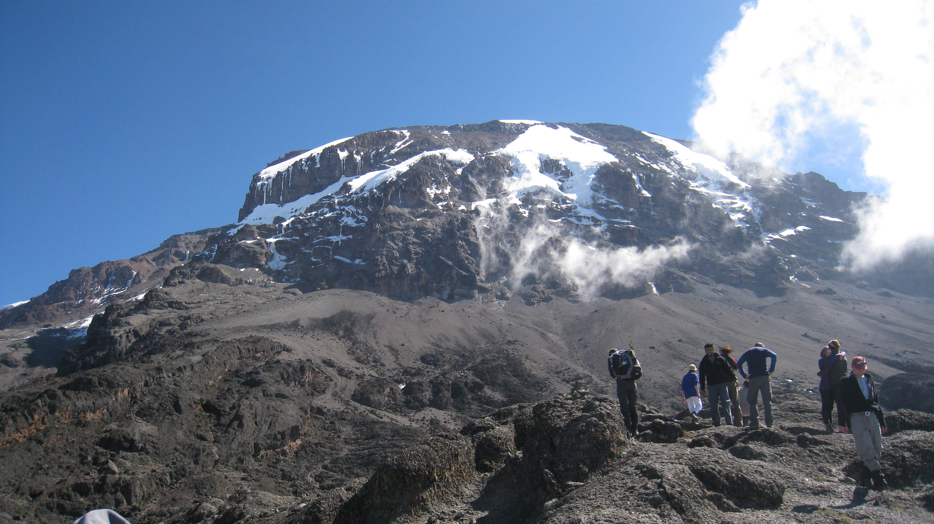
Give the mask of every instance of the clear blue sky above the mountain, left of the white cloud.
[{"label": "clear blue sky above the mountain, left of the white cloud", "polygon": [[3,2],[0,304],[232,223],[267,162],[343,136],[531,119],[689,137],[741,5]]}]

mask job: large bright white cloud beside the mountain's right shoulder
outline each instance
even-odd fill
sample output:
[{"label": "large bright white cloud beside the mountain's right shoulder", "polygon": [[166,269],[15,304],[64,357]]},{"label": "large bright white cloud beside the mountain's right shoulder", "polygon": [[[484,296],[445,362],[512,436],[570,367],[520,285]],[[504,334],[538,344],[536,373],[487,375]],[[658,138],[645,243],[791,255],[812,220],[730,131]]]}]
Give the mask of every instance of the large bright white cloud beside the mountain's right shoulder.
[{"label": "large bright white cloud beside the mountain's right shoulder", "polygon": [[[856,269],[934,238],[934,21],[931,3],[760,0],[723,36],[692,124],[718,153],[787,168],[861,135],[868,177],[887,201],[860,215],[845,248]],[[836,146],[841,146],[838,142]],[[833,151],[829,151],[832,153]]]}]

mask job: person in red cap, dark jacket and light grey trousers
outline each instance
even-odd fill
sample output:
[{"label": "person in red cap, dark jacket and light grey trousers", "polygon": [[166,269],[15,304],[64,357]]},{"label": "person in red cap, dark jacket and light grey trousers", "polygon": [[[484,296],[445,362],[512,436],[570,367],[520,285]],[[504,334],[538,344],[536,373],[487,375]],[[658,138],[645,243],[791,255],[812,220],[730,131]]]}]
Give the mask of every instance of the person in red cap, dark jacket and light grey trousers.
[{"label": "person in red cap, dark jacket and light grey trousers", "polygon": [[856,451],[863,459],[863,464],[870,470],[872,489],[880,491],[888,488],[882,473],[882,434],[888,431],[882,408],[879,407],[879,390],[876,389],[872,375],[866,373],[869,366],[866,357],[854,357],[850,375],[840,380],[840,396],[843,401],[843,420],[846,426],[840,426],[840,432],[853,433]]}]

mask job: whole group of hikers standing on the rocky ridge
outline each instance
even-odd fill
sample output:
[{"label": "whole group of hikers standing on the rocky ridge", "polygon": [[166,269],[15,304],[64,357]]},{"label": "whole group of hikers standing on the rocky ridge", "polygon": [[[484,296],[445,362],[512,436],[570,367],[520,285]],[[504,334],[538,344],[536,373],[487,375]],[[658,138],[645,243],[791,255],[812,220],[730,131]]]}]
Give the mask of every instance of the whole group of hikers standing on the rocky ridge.
[{"label": "whole group of hikers standing on the rocky ridge", "polygon": [[[764,422],[771,428],[771,374],[775,372],[778,355],[757,342],[740,359],[733,359],[729,346],[705,344],[705,355],[697,365],[688,366],[681,379],[681,400],[687,406],[687,415],[692,421],[700,420],[703,399],[710,404],[710,418],[714,427],[720,426],[721,415],[729,426],[760,429],[758,399],[762,398]],[[873,489],[888,487],[879,458],[882,456],[882,435],[887,432],[879,391],[867,373],[865,357],[855,357],[849,366],[846,352],[841,351],[840,341],[831,340],[821,349],[817,361],[820,376],[821,418],[824,429],[833,432],[833,406],[837,406],[837,429],[853,434],[856,450],[868,469]],[[630,434],[638,432],[639,413],[636,410],[636,380],[642,375],[642,365],[636,358],[635,349],[610,349],[607,358],[610,376],[616,380],[616,396],[619,409]],[[745,369],[743,369],[745,368]],[[852,371],[847,375],[847,369]],[[739,372],[743,376],[740,385]],[[722,414],[721,414],[722,412]]]}]

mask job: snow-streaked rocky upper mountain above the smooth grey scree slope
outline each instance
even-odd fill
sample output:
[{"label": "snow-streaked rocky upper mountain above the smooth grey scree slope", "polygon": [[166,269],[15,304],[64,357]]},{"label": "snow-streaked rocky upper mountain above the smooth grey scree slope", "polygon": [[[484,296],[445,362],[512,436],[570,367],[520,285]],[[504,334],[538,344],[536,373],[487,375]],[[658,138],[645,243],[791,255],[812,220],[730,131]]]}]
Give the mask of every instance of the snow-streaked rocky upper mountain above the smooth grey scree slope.
[{"label": "snow-streaked rocky upper mountain above the smooth grey scree slope", "polygon": [[[129,298],[190,260],[402,300],[490,290],[618,298],[697,283],[775,294],[789,282],[854,277],[838,261],[866,194],[685,144],[624,126],[494,120],[292,151],[254,175],[237,224],[75,270],[0,312],[0,328]],[[912,267],[934,269],[924,257]],[[931,290],[926,278],[869,277],[874,287]]]}]

